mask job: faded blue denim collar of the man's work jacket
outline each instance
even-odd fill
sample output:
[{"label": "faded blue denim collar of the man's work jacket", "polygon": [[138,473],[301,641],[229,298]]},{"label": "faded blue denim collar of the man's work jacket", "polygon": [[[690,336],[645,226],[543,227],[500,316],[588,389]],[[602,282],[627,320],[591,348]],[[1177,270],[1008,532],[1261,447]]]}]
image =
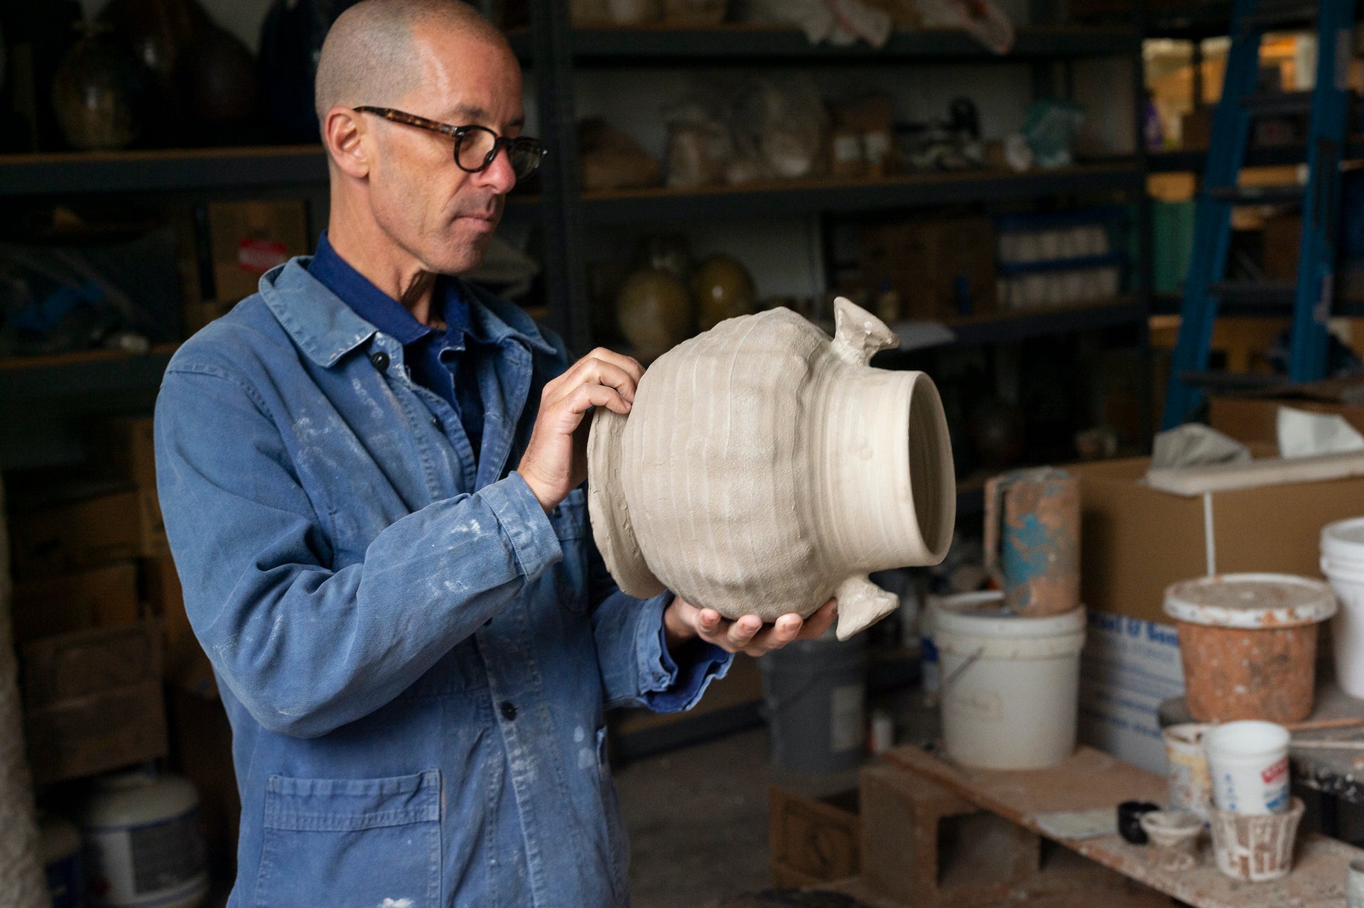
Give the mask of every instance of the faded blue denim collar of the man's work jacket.
[{"label": "faded blue denim collar of the man's work jacket", "polygon": [[[261,277],[261,297],[299,349],[318,365],[330,368],[378,329],[308,274],[310,260],[311,256],[296,256],[266,271]],[[477,334],[492,344],[514,339],[540,353],[555,352],[518,307],[468,281],[461,284]]]}]

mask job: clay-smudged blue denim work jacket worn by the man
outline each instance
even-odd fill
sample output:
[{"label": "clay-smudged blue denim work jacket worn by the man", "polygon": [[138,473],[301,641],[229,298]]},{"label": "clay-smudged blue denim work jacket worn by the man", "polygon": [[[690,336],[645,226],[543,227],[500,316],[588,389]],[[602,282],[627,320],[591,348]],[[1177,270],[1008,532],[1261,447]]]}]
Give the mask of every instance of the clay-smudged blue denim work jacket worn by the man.
[{"label": "clay-smudged blue denim work jacket worn by the man", "polygon": [[558,338],[468,286],[498,345],[475,465],[402,346],[306,262],[186,342],[157,399],[165,526],[233,729],[229,905],[627,904],[603,709],[686,709],[728,657],[675,665],[667,596],[610,585],[584,489],[547,515],[509,472]]}]

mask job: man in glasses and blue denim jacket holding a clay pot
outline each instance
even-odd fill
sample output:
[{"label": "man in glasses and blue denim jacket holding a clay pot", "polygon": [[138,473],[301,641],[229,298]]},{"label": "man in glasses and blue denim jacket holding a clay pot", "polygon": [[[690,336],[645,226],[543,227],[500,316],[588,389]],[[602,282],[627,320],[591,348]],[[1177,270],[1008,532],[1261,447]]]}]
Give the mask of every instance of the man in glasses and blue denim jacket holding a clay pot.
[{"label": "man in glasses and blue denim jacket holding a clay pot", "polygon": [[157,401],[166,532],[233,727],[229,904],[625,904],[603,709],[686,709],[730,653],[818,635],[835,604],[764,629],[608,586],[585,417],[629,413],[642,369],[570,368],[454,277],[542,154],[494,29],[366,0],[316,95],[318,255],[188,341]]}]

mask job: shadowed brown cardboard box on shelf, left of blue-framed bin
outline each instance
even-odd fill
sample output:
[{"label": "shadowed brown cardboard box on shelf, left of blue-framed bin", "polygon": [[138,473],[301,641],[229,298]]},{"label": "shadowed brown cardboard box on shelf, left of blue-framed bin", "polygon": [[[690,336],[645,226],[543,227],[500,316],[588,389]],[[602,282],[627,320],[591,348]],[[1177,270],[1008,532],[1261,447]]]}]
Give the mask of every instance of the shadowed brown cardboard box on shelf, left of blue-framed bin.
[{"label": "shadowed brown cardboard box on shelf, left of blue-framed bin", "polygon": [[[996,309],[994,224],[989,218],[862,228],[858,282],[899,293],[907,318],[958,319]],[[964,288],[970,311],[959,307]]]}]

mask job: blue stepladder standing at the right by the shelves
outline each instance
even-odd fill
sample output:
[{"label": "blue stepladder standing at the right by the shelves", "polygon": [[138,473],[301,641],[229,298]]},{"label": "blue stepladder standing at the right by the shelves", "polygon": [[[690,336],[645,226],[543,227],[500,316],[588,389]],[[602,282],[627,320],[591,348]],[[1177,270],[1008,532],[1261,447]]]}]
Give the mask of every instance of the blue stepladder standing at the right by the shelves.
[{"label": "blue stepladder standing at the right by the shelves", "polygon": [[[1258,94],[1260,40],[1266,31],[1316,25],[1316,82],[1311,91]],[[1219,304],[1284,311],[1292,304],[1289,378],[1312,382],[1326,375],[1327,333],[1335,282],[1341,150],[1345,142],[1353,0],[1236,0],[1232,45],[1222,97],[1213,112],[1213,136],[1203,191],[1194,213],[1194,255],[1184,281],[1180,334],[1165,394],[1163,428],[1194,417],[1202,402],[1191,382],[1206,372],[1213,323]],[[1308,110],[1307,185],[1239,187],[1251,121],[1260,116]],[[1229,282],[1232,209],[1239,205],[1303,203],[1297,281]]]}]

